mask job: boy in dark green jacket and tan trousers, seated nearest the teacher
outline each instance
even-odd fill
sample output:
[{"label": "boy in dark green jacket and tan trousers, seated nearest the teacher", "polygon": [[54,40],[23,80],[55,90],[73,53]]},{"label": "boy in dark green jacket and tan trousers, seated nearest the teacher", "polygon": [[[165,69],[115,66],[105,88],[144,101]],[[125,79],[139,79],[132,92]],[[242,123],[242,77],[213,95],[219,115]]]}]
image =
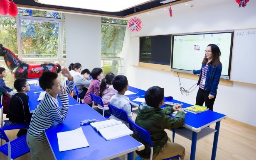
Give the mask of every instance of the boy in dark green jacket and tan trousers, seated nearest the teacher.
[{"label": "boy in dark green jacket and tan trousers, seated nearest the teacher", "polygon": [[[176,155],[180,155],[184,160],[185,148],[182,145],[173,143],[167,136],[165,129],[178,128],[184,125],[185,112],[181,108],[183,104],[176,104],[173,107],[160,108],[164,103],[164,91],[162,88],[153,86],[145,93],[145,101],[138,108],[138,115],[135,123],[147,130],[153,144],[153,160],[163,160]],[[178,111],[174,118],[170,115]],[[145,145],[145,149],[136,151],[141,157],[150,158],[150,146],[133,135],[140,143]]]}]

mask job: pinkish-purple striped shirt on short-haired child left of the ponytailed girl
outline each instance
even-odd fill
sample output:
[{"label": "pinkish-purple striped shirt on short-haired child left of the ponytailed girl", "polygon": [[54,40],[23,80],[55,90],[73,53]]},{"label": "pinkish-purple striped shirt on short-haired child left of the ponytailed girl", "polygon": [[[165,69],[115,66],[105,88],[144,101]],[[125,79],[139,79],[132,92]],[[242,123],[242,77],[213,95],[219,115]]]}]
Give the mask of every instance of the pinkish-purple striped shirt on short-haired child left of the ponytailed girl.
[{"label": "pinkish-purple striped shirt on short-haired child left of the ponytailed girl", "polygon": [[98,80],[91,80],[91,83],[90,83],[89,88],[86,92],[86,95],[84,96],[84,103],[91,104],[92,100],[91,100],[91,94],[90,93],[93,93],[94,95],[98,96],[99,90],[100,90],[99,81]]}]

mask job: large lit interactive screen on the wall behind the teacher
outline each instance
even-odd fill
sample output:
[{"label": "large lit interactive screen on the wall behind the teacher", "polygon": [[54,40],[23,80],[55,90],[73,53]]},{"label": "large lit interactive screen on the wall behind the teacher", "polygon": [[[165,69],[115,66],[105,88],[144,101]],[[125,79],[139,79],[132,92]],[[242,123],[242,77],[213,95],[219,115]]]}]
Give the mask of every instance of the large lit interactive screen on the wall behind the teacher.
[{"label": "large lit interactive screen on the wall behind the teacher", "polygon": [[216,44],[221,51],[221,78],[229,79],[234,31],[200,32],[173,34],[171,71],[192,73],[199,70],[204,58],[204,50],[209,44]]}]

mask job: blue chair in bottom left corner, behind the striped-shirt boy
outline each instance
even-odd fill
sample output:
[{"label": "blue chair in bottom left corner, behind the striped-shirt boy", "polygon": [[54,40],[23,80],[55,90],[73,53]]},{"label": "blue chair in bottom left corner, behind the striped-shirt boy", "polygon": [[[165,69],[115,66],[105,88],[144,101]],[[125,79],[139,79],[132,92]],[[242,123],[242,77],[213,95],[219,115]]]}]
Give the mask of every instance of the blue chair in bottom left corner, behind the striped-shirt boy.
[{"label": "blue chair in bottom left corner, behind the striped-shirt boy", "polygon": [[8,160],[15,159],[30,152],[30,148],[27,146],[26,135],[20,136],[13,141],[9,141],[5,131],[0,128],[0,138],[7,143],[0,147],[0,151],[8,156]]}]

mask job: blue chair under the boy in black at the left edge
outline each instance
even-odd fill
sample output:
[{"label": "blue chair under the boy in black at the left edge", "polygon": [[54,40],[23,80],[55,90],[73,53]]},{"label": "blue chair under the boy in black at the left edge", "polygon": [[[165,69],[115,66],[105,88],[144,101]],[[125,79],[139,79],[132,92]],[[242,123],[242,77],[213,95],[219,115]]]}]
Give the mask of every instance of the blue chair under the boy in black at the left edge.
[{"label": "blue chair under the boy in black at the left edge", "polygon": [[[23,129],[26,128],[28,129],[30,124],[27,122],[24,123],[13,123],[10,122],[9,120],[3,120],[3,108],[2,108],[2,104],[0,103],[0,110],[1,110],[1,128],[2,130],[12,130],[12,129]],[[1,139],[1,145],[2,145],[2,139]]]}]

